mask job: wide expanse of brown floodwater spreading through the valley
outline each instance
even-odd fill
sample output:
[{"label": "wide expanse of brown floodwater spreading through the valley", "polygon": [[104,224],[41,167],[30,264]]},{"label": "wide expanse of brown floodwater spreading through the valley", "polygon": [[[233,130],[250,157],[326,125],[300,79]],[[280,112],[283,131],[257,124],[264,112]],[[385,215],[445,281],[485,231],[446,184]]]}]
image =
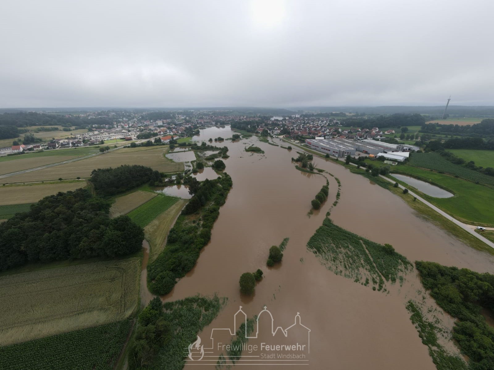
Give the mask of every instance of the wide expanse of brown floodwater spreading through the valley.
[{"label": "wide expanse of brown floodwater spreading through the valley", "polygon": [[[228,126],[208,128],[199,136],[203,140],[226,138],[227,129]],[[274,142],[289,145],[279,139]],[[260,147],[265,154],[246,153],[244,147],[250,144]],[[203,344],[210,345],[211,329],[238,329],[234,328],[233,317],[239,306],[252,317],[266,305],[274,328],[286,329],[300,313],[300,323],[311,330],[310,354],[305,359],[308,361],[294,362],[290,369],[435,369],[405,308],[406,301],[418,294],[417,289],[423,291],[416,273],[407,276],[403,288],[388,287],[390,293],[385,294],[333,274],[307,250],[309,238],[321,226],[335,199],[335,179],[328,176],[329,199],[320,211],[309,215],[310,202],[326,179],[294,168],[290,158],[300,149],[288,151],[259,142],[255,137],[220,145],[229,148],[230,158],[225,163],[233,187],[198,263],[170,294],[162,297],[165,301],[197,293],[228,297],[227,306],[199,333]],[[368,179],[332,161],[316,158],[314,163],[341,181],[341,198],[331,210],[335,224],[372,241],[392,244],[411,261],[428,260],[479,272],[492,271],[492,256],[465,246],[424,221],[389,191],[371,186]],[[267,268],[269,247],[279,245],[286,237],[290,240],[283,262]],[[258,268],[264,272],[263,280],[257,283],[252,297],[242,296],[240,275]],[[445,321],[452,323],[448,317]],[[260,315],[259,322],[259,334],[248,341],[249,345],[307,341],[306,330],[291,330],[286,338],[277,331],[273,337],[267,313]],[[215,346],[218,342],[229,344],[231,339],[225,330],[214,334]],[[226,354],[217,347],[209,352],[214,364],[220,353]],[[269,365],[251,365],[254,362],[246,360],[257,359],[248,357],[251,355],[254,354],[243,353],[241,363],[247,369],[271,369]],[[276,361],[264,363],[279,365]],[[187,364],[185,369],[195,366]]]}]

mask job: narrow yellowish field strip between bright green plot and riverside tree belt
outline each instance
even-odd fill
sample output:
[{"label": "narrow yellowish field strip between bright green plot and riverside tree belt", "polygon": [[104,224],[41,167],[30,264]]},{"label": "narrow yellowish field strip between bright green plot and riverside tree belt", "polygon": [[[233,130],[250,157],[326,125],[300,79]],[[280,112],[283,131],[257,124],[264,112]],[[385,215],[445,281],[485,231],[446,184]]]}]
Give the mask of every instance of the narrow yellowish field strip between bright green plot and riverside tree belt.
[{"label": "narrow yellowish field strip between bright green plot and riverside tree belt", "polygon": [[149,252],[150,262],[154,261],[156,257],[158,257],[158,255],[163,251],[168,231],[170,231],[171,226],[175,222],[175,219],[178,217],[186,203],[186,199],[178,200],[176,203],[166,209],[165,212],[160,213],[158,217],[156,217],[144,228],[144,235],[146,237],[146,240],[151,245],[151,251]]}]

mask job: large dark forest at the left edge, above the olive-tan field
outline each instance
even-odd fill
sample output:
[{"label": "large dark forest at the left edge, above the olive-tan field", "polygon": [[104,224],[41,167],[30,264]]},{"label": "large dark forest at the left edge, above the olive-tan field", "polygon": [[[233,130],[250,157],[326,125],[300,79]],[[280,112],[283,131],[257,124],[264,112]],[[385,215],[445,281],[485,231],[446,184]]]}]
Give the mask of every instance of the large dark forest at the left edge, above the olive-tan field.
[{"label": "large dark forest at the left edge, above the olive-tan field", "polygon": [[27,262],[116,257],[142,247],[144,231],[85,189],[41,199],[0,224],[0,271]]}]

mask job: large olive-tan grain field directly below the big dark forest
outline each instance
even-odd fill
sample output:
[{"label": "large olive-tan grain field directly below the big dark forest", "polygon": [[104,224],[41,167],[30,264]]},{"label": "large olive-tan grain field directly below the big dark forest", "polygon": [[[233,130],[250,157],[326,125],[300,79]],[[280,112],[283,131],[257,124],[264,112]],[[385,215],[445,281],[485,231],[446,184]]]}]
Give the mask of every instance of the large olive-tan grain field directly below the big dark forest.
[{"label": "large olive-tan grain field directly below the big dark forest", "polygon": [[93,262],[0,277],[0,346],[127,318],[140,259]]}]

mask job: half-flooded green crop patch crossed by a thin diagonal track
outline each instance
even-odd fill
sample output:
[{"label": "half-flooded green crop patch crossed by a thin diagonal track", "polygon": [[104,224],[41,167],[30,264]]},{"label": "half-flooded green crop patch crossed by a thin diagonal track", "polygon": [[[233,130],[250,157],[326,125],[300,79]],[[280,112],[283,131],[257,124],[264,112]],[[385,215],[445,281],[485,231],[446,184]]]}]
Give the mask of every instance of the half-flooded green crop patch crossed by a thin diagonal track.
[{"label": "half-flooded green crop patch crossed by a thin diagonal track", "polygon": [[307,247],[319,261],[336,275],[353,279],[364,286],[372,282],[372,288],[382,290],[384,280],[400,284],[404,275],[412,269],[406,257],[390,245],[382,246],[334,225],[325,218],[323,226],[310,238]]}]

